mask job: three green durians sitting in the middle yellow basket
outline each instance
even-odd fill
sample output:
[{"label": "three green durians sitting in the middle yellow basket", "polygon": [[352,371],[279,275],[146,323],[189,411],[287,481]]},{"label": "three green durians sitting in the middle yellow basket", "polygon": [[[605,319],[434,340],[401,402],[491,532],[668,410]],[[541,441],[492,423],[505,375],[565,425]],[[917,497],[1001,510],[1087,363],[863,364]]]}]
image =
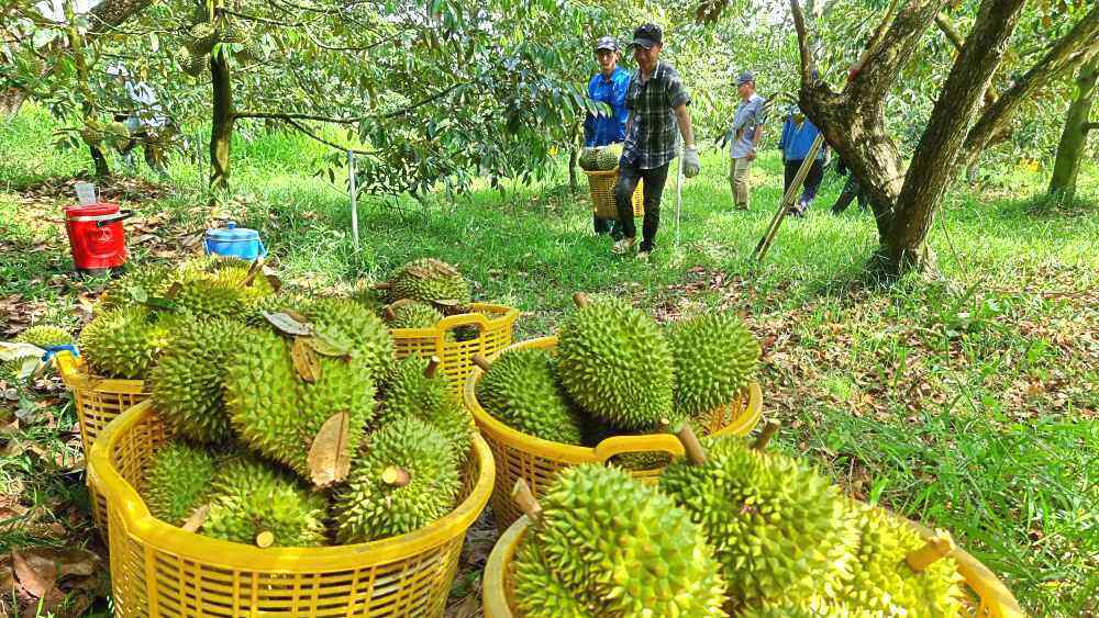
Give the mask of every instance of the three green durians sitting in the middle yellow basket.
[{"label": "three green durians sitting in the middle yellow basket", "polygon": [[[593,447],[620,435],[665,432],[732,402],[753,380],[759,344],[731,312],[658,325],[613,296],[577,294],[552,349],[511,348],[477,383],[492,417],[523,434]],[[614,463],[657,468],[667,453],[623,453]]]}]

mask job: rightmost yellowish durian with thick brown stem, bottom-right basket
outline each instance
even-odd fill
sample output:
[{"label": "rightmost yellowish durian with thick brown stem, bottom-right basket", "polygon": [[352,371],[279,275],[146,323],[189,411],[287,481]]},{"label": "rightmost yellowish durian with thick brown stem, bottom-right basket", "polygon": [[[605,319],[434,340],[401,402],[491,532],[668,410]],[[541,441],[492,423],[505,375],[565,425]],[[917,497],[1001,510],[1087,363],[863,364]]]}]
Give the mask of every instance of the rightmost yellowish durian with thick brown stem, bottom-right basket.
[{"label": "rightmost yellowish durian with thick brown stem, bottom-right basket", "polygon": [[[856,514],[862,532],[852,577],[841,592],[848,605],[877,616],[962,615],[962,576],[957,562],[944,555],[952,548],[948,537],[929,543],[878,507],[854,502],[848,507]],[[917,560],[924,552],[930,555]]]}]

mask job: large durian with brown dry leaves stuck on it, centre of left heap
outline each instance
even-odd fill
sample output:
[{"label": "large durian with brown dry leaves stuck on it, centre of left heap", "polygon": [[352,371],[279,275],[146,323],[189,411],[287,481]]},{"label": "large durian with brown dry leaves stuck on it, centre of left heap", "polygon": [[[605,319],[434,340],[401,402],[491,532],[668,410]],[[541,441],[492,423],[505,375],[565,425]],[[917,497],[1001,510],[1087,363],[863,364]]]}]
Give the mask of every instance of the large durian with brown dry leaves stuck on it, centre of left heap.
[{"label": "large durian with brown dry leaves stuck on it, centre of left heap", "polygon": [[225,409],[252,449],[310,479],[310,447],[334,414],[347,413],[347,448],[356,451],[374,417],[375,386],[355,355],[317,355],[320,377],[306,382],[295,369],[291,346],[271,328],[243,333],[225,364]]}]

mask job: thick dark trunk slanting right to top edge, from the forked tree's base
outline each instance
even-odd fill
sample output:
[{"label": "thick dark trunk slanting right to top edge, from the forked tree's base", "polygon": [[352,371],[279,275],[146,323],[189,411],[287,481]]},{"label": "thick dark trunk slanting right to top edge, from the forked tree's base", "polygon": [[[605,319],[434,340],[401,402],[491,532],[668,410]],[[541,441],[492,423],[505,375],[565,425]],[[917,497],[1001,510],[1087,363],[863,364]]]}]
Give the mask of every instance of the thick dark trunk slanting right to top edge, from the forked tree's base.
[{"label": "thick dark trunk slanting right to top edge, from the forked tree's base", "polygon": [[1000,66],[1026,0],[984,0],[920,137],[880,251],[887,274],[934,267],[928,231],[954,178],[969,123]]}]

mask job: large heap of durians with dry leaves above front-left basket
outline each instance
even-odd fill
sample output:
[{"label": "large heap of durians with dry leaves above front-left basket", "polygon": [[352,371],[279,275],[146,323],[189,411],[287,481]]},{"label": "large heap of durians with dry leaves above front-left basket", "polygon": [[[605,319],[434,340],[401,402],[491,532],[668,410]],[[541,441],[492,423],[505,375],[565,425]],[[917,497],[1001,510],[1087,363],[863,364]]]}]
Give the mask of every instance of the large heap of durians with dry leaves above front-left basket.
[{"label": "large heap of durians with dry leaves above front-left basket", "polygon": [[170,430],[137,487],[153,516],[315,547],[454,509],[474,426],[434,363],[396,361],[386,325],[355,300],[276,292],[246,262],[192,266],[121,279],[81,335],[96,371],[148,379]]}]

